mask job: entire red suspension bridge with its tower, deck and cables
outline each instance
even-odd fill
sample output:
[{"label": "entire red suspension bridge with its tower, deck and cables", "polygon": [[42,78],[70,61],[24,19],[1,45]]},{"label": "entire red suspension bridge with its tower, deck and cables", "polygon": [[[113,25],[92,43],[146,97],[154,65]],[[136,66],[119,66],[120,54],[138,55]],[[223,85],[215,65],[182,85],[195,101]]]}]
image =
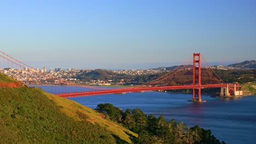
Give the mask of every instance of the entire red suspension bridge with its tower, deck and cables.
[{"label": "entire red suspension bridge with its tower, deck and cables", "polygon": [[[0,51],[0,69],[3,71],[3,73],[13,76],[18,80],[21,79],[20,75],[23,75],[23,79],[27,79],[27,81],[33,79],[38,84],[40,84],[40,82],[42,82],[42,80],[44,80],[46,77],[44,71],[34,69],[33,67],[18,61],[18,59],[15,59],[2,51]],[[60,85],[60,83],[65,84],[65,80],[62,80],[60,77],[56,77],[54,75],[47,75],[47,77],[59,82],[55,83],[55,85]],[[101,87],[83,86],[78,85],[77,83],[68,84],[68,86],[62,87],[62,91],[58,90],[59,87],[53,87],[54,89],[51,92],[59,95],[60,97],[71,98],[101,94],[162,91],[167,89],[193,89],[193,101],[201,101],[202,88],[220,87],[222,88],[222,95],[225,96],[236,95],[238,92],[240,94],[240,86],[238,84],[225,83],[222,79],[220,79],[216,72],[201,56],[201,53],[193,53],[193,57],[188,58],[178,67],[166,74],[163,74],[153,81],[149,81],[139,86],[107,89]],[[97,90],[76,92],[75,87],[86,87]],[[63,88],[65,89],[63,90]],[[71,89],[73,90],[71,91]]]}]

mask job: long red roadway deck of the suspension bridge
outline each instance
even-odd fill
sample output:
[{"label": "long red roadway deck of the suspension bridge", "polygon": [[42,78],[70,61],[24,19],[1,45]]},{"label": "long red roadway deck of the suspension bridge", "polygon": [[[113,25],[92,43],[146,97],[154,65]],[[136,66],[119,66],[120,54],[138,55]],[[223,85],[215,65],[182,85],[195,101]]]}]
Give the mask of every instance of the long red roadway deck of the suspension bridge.
[{"label": "long red roadway deck of the suspension bridge", "polygon": [[[234,87],[234,85],[228,85]],[[107,89],[101,91],[88,91],[88,92],[74,92],[74,93],[62,93],[56,94],[63,98],[73,97],[85,97],[91,95],[102,95],[102,94],[122,94],[130,92],[144,92],[144,91],[162,91],[167,89],[196,89],[196,88],[210,88],[210,87],[227,87],[226,84],[214,84],[214,85],[188,85],[188,86],[164,86],[164,87],[131,87],[131,88],[116,88]]]}]

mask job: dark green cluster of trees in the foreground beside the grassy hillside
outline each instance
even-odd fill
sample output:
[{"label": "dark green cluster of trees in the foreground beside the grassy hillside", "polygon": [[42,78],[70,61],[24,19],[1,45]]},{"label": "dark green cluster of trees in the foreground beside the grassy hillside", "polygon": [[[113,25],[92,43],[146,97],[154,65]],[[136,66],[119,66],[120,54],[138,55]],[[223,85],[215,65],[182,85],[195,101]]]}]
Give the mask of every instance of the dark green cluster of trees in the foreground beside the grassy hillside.
[{"label": "dark green cluster of trees in the foreground beside the grassy hillside", "polygon": [[137,133],[138,139],[134,139],[134,143],[220,143],[211,134],[211,130],[197,125],[189,128],[175,119],[167,122],[164,116],[147,116],[139,108],[123,112],[112,104],[98,104],[96,110],[107,115],[111,121]]}]

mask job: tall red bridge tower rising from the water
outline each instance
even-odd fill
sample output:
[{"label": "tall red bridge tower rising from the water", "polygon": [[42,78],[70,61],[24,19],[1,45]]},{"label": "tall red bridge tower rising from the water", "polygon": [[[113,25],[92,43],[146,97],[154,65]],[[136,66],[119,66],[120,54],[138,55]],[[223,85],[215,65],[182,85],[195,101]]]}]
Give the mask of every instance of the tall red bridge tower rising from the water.
[{"label": "tall red bridge tower rising from the water", "polygon": [[202,101],[201,99],[201,53],[193,54],[193,101]]}]

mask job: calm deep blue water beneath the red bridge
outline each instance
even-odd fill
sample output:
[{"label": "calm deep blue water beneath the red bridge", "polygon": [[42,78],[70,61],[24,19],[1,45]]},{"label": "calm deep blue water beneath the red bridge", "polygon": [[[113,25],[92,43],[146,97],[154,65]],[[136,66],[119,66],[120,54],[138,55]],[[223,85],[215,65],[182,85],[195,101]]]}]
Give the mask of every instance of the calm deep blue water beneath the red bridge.
[{"label": "calm deep blue water beneath the red bridge", "polygon": [[[49,86],[43,89],[52,91]],[[85,89],[77,88],[79,91]],[[256,96],[240,98],[212,98],[202,95],[205,103],[192,103],[192,94],[145,92],[95,95],[69,98],[95,109],[100,103],[111,103],[123,110],[139,107],[145,113],[175,118],[189,127],[195,124],[211,129],[212,134],[226,143],[255,143]]]}]

